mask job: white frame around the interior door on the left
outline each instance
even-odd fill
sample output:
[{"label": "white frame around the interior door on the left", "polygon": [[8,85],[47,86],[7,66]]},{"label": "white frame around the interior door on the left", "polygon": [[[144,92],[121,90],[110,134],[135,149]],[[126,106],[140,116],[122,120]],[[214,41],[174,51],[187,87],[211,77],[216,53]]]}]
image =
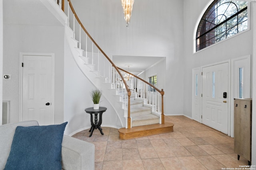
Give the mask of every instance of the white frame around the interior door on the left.
[{"label": "white frame around the interior door on the left", "polygon": [[51,96],[51,102],[52,102],[52,108],[51,108],[51,116],[52,116],[52,122],[51,124],[54,124],[54,53],[20,53],[20,114],[19,114],[19,121],[22,121],[23,117],[23,69],[22,69],[22,63],[23,63],[23,56],[24,55],[30,55],[30,56],[50,56],[51,62],[52,62],[52,96]]}]

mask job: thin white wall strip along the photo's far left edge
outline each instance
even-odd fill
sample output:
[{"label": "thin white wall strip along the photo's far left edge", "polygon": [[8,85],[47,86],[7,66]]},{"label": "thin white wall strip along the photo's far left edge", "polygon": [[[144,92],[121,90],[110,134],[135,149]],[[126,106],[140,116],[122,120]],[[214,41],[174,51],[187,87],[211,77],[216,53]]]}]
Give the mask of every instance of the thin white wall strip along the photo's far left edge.
[{"label": "thin white wall strip along the photo's far left edge", "polygon": [[3,0],[0,0],[0,125],[2,125],[3,99]]}]

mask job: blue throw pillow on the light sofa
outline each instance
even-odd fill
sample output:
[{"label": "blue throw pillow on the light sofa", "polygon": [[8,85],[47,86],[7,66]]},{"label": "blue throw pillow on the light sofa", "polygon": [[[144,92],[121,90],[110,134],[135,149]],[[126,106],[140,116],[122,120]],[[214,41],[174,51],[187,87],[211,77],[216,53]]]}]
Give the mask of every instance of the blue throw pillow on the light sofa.
[{"label": "blue throw pillow on the light sofa", "polygon": [[67,123],[17,126],[4,170],[61,170],[61,144]]}]

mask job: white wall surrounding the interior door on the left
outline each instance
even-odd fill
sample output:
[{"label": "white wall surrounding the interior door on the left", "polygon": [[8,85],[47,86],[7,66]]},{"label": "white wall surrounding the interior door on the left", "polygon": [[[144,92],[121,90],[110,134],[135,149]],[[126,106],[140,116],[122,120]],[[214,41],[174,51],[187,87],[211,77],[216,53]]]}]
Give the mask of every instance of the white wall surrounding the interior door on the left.
[{"label": "white wall surrounding the interior door on the left", "polygon": [[5,24],[4,74],[11,79],[3,82],[3,100],[10,100],[10,122],[19,121],[20,52],[54,53],[55,55],[55,122],[63,122],[64,91],[64,27]]}]

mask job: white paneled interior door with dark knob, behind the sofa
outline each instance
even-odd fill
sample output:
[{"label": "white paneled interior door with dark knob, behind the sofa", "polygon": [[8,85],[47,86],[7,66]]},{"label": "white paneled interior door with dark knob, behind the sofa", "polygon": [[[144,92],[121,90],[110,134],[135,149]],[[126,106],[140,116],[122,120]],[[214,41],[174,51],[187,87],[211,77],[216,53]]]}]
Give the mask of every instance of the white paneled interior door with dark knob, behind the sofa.
[{"label": "white paneled interior door with dark knob, behind the sofa", "polygon": [[52,56],[23,55],[22,70],[22,121],[53,124]]}]

